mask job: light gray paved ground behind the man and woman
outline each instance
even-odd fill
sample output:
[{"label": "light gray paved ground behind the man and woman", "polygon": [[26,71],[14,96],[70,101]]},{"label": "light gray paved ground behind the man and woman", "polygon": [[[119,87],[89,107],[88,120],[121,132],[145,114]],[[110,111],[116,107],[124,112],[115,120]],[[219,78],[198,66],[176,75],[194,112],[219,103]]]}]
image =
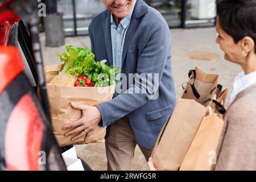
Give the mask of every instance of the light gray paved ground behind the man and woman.
[{"label": "light gray paved ground behind the man and woman", "polygon": [[[172,35],[172,72],[174,73],[176,94],[180,96],[182,92],[181,85],[187,81],[189,69],[195,68],[197,65],[205,72],[217,73],[220,75],[219,82],[225,87],[232,89],[234,77],[241,72],[238,65],[231,64],[224,60],[224,53],[215,43],[216,31],[214,28],[198,28],[198,29],[174,29],[171,30]],[[60,61],[56,53],[65,51],[64,46],[50,48],[45,47],[45,36],[40,35],[43,47],[44,64],[59,64]],[[66,45],[83,46],[90,48],[88,36],[80,36],[73,38],[65,38]],[[187,57],[187,53],[193,51],[209,52],[217,55],[211,61],[196,60]],[[230,92],[229,92],[230,95]],[[226,101],[226,106],[229,104]],[[76,146],[79,156],[84,159],[93,170],[106,170],[106,154],[104,143],[88,144]],[[133,170],[147,170],[147,164],[141,151],[136,148],[135,157],[132,165]]]}]

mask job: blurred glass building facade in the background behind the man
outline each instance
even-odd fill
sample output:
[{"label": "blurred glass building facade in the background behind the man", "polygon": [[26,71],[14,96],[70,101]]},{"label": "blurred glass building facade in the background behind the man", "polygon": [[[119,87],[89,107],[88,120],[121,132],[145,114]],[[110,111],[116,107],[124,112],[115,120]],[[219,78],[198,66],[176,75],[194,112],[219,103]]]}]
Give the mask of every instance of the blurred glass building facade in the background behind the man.
[{"label": "blurred glass building facade in the background behind the man", "polygon": [[[216,22],[216,0],[144,0],[159,10],[170,28],[212,27]],[[88,34],[93,16],[105,10],[101,0],[57,0],[63,14],[65,36]]]}]

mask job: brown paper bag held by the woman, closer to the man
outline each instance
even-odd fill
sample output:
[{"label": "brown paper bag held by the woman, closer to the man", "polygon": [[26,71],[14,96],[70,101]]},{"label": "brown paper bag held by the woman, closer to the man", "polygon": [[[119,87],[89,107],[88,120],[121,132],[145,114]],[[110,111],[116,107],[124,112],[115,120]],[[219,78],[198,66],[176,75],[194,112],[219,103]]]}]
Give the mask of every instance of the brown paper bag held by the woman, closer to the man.
[{"label": "brown paper bag held by the woman, closer to the man", "polygon": [[[211,91],[216,88],[217,82],[218,75],[204,73],[196,67],[170,119],[156,140],[152,152],[152,160],[156,169],[179,169],[211,104],[211,102],[204,104],[203,101],[214,97],[214,92]],[[195,97],[193,86],[200,94],[199,98]]]}]

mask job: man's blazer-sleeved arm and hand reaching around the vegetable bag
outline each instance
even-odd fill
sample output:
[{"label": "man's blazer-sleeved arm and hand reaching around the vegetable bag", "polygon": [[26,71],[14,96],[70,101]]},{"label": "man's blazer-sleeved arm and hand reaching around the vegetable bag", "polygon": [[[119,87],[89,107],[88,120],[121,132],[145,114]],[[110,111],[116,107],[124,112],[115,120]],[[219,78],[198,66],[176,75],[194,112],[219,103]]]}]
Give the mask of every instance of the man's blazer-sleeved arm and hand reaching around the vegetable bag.
[{"label": "man's blazer-sleeved arm and hand reaching around the vegetable bag", "polygon": [[[89,32],[93,52],[94,42],[90,28]],[[132,85],[125,93],[122,93],[112,101],[105,102],[97,107],[72,103],[71,105],[75,109],[82,110],[82,117],[77,121],[73,121],[63,126],[63,130],[73,129],[72,131],[65,133],[65,136],[77,134],[72,138],[74,140],[86,136],[84,139],[86,141],[97,125],[110,125],[117,119],[146,104],[146,102],[154,96],[154,92],[147,88],[152,88],[152,85],[154,85],[154,88],[157,90],[159,87],[159,82],[162,79],[168,55],[170,55],[170,44],[170,31],[168,26],[162,24],[161,26],[156,27],[154,31],[152,31],[146,46],[139,56],[137,73],[151,73],[152,75],[158,73],[158,80],[154,82],[154,79],[152,79],[152,82],[147,81],[146,83],[146,80],[142,79],[142,82],[140,83],[139,80],[136,79],[139,78],[137,75],[137,77],[135,77],[134,85]],[[136,90],[137,93],[133,93],[133,90]],[[88,117],[88,115],[90,115],[90,117]]]}]

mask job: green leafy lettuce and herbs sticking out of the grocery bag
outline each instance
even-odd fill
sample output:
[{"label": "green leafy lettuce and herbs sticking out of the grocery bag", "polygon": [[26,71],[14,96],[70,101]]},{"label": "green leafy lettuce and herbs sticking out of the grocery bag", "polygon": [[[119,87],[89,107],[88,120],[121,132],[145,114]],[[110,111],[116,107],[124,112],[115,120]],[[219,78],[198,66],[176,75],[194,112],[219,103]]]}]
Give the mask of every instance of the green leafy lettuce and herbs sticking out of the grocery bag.
[{"label": "green leafy lettuce and herbs sticking out of the grocery bag", "polygon": [[58,54],[64,62],[64,73],[73,76],[86,76],[93,82],[93,86],[109,86],[116,83],[116,75],[121,71],[106,65],[107,60],[95,61],[94,54],[83,47],[66,46],[67,52]]}]

